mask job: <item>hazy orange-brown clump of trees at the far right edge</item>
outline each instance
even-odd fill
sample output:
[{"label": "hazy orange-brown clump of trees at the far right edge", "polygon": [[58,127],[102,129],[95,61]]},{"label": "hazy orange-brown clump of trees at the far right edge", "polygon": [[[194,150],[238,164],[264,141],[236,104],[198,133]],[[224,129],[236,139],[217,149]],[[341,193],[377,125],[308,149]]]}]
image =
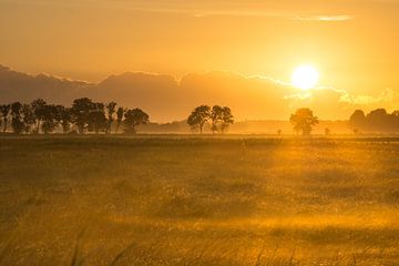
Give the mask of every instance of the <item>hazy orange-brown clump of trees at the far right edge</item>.
[{"label": "hazy orange-brown clump of trees at the far right edge", "polygon": [[349,125],[355,133],[360,132],[399,132],[399,111],[388,113],[385,109],[376,109],[366,114],[356,110],[349,117]]}]

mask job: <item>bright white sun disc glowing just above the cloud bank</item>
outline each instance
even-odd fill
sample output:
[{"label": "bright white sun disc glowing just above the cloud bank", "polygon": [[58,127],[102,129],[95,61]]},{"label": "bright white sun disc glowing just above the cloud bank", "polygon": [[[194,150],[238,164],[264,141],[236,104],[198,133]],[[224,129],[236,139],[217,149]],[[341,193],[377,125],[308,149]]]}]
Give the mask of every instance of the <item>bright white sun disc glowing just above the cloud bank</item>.
[{"label": "bright white sun disc glowing just above the cloud bank", "polygon": [[297,66],[291,75],[293,85],[300,90],[314,89],[319,80],[319,72],[310,64]]}]

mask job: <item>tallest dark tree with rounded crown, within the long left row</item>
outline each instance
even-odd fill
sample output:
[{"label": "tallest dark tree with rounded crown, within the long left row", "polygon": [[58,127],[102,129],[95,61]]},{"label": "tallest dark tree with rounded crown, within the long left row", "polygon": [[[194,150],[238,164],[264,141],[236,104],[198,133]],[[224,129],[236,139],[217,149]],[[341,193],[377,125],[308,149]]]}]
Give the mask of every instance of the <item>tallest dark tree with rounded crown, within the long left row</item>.
[{"label": "tallest dark tree with rounded crown, within the long left row", "polygon": [[95,104],[89,98],[81,98],[73,101],[71,108],[72,122],[76,125],[80,134],[90,123],[90,113],[95,109]]}]

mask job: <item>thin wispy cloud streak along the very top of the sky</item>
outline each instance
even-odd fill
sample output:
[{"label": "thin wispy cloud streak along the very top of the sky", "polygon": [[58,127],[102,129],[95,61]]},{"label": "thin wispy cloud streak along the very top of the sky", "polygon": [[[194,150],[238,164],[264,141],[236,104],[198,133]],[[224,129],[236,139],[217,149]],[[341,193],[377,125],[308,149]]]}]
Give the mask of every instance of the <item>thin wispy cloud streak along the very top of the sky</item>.
[{"label": "thin wispy cloud streak along the very top of the sky", "polygon": [[[37,4],[42,7],[72,7],[72,8],[106,8],[132,10],[149,13],[166,13],[187,16],[193,18],[206,17],[258,17],[258,18],[280,18],[301,21],[347,21],[352,20],[352,16],[301,16],[309,10],[287,10],[282,7],[269,7],[264,4],[255,4],[250,2],[242,2],[241,4],[214,4],[213,2],[185,3],[174,1],[126,1],[126,0],[98,0],[93,6],[93,0],[0,0],[1,2],[19,3],[19,4]],[[239,7],[239,8],[238,8]]]}]

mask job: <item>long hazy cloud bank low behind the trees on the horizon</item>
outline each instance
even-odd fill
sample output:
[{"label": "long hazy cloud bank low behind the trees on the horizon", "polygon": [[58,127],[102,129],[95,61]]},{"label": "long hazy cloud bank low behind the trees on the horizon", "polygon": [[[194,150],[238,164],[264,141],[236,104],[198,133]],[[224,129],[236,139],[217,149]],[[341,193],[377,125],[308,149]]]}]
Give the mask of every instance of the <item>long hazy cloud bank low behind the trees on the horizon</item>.
[{"label": "long hazy cloud bank low behind the trees on the horizon", "polygon": [[43,98],[65,105],[80,96],[116,101],[126,108],[142,108],[152,120],[184,120],[200,104],[228,105],[237,121],[287,120],[298,108],[310,108],[324,120],[346,120],[356,109],[397,109],[399,91],[386,89],[378,95],[354,95],[346,90],[317,88],[301,91],[269,76],[246,76],[233,72],[186,74],[181,80],[165,74],[127,72],[100,83],[85,83],[51,75],[29,75],[0,66],[3,102],[30,102]]}]

